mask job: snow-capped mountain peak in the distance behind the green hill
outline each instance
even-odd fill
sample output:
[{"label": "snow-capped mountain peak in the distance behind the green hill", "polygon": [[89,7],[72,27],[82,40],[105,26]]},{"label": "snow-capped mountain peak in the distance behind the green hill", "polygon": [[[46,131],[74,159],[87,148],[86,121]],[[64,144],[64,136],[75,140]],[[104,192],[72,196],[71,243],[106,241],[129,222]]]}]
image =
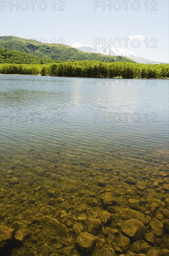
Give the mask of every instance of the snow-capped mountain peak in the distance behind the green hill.
[{"label": "snow-capped mountain peak in the distance behind the green hill", "polygon": [[128,50],[123,49],[122,47],[104,47],[104,48],[92,48],[87,46],[81,46],[77,47],[78,50],[81,50],[86,53],[97,53],[97,54],[104,54],[108,56],[123,56],[130,58],[133,61],[136,61],[137,63],[144,63],[144,64],[160,64],[160,62],[156,61],[149,61],[147,59],[144,59],[137,54],[130,52]]}]

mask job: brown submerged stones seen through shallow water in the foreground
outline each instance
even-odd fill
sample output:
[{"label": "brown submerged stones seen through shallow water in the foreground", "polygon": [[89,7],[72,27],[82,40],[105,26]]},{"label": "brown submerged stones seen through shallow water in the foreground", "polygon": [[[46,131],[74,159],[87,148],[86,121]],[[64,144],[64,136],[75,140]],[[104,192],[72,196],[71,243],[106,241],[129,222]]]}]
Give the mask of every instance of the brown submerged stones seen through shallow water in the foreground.
[{"label": "brown submerged stones seen through shallow water in the foreground", "polygon": [[2,160],[2,255],[168,256],[167,157]]}]

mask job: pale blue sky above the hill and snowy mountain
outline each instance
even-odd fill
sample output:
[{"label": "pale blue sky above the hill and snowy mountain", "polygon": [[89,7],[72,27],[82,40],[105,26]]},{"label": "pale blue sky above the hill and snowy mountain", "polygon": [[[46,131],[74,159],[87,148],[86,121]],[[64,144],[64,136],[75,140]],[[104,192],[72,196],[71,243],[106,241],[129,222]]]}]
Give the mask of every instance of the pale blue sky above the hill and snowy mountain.
[{"label": "pale blue sky above the hill and snowy mountain", "polygon": [[[111,10],[105,7],[103,10],[103,2],[108,4],[110,1],[97,1],[97,5],[101,5],[94,11],[93,0],[64,0],[64,1],[39,1],[34,3],[34,11],[32,11],[32,2],[22,2],[22,6],[16,11],[17,1],[0,1],[1,2],[1,35],[16,35],[23,38],[45,38],[47,42],[51,42],[55,38],[56,42],[59,38],[65,40],[65,44],[72,45],[73,43],[81,43],[93,47],[94,38],[100,38],[105,41],[112,41],[119,38],[122,41],[121,47],[125,48],[123,38],[129,36],[142,35],[149,42],[141,41],[138,48],[131,46],[131,41],[128,41],[127,50],[133,51],[141,57],[152,61],[169,62],[169,2],[168,0],[157,1],[137,1],[140,9],[136,9],[137,4],[134,1],[128,3],[128,8],[125,10],[123,1],[121,10],[117,11],[120,5],[117,3]],[[40,8],[45,11],[39,10]],[[53,10],[55,2],[56,10]],[[62,6],[62,2],[65,6]],[[114,0],[111,4],[114,4]],[[135,1],[136,2],[136,1]],[[52,4],[53,3],[53,4]],[[7,7],[3,7],[6,6]],[[64,11],[57,10],[65,9]],[[26,9],[26,11],[21,10]],[[146,8],[148,9],[146,11]],[[150,11],[157,9],[156,11]],[[11,10],[10,10],[11,9]],[[155,40],[150,41],[155,38]],[[61,41],[60,41],[61,42]],[[157,48],[150,47],[155,43]],[[98,47],[103,47],[102,44]]]}]

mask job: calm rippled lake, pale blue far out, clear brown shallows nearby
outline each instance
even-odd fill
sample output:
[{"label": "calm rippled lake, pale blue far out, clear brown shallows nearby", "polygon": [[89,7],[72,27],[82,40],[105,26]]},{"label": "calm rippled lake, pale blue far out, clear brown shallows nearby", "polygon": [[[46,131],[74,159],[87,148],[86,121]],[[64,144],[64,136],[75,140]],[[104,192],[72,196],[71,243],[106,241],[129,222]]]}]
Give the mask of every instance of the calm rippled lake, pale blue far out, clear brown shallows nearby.
[{"label": "calm rippled lake, pale blue far out, clear brown shallows nearby", "polygon": [[[89,232],[97,236],[92,255],[98,256],[114,248],[108,236],[112,229],[121,234],[117,223],[133,214],[128,208],[147,218],[151,232],[153,217],[165,227],[169,80],[0,75],[0,81],[0,222],[23,243],[11,255],[81,255],[77,229],[89,232],[91,218],[103,225]],[[103,211],[113,217],[109,225]]]}]

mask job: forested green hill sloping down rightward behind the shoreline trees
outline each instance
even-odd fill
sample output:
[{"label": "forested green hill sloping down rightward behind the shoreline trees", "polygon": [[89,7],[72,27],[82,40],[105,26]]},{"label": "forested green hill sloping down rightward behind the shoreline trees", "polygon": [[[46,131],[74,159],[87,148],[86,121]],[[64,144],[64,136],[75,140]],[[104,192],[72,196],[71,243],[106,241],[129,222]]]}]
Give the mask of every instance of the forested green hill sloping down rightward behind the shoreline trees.
[{"label": "forested green hill sloping down rightward behind the shoreline trees", "polygon": [[[8,51],[20,51],[25,54],[34,55],[39,58],[51,59],[47,62],[53,61],[101,61],[101,62],[132,62],[135,61],[122,56],[107,56],[104,54],[85,53],[76,48],[67,46],[65,44],[43,43],[36,40],[27,40],[16,36],[1,36],[0,48]],[[5,55],[6,54],[6,57]],[[29,59],[26,55],[20,54],[20,59],[17,57],[18,52],[4,53],[1,51],[1,63],[18,63],[20,59],[24,64],[39,64],[38,58]],[[26,58],[24,58],[26,57]],[[28,62],[26,62],[28,61]],[[42,63],[44,60],[42,60]]]}]

